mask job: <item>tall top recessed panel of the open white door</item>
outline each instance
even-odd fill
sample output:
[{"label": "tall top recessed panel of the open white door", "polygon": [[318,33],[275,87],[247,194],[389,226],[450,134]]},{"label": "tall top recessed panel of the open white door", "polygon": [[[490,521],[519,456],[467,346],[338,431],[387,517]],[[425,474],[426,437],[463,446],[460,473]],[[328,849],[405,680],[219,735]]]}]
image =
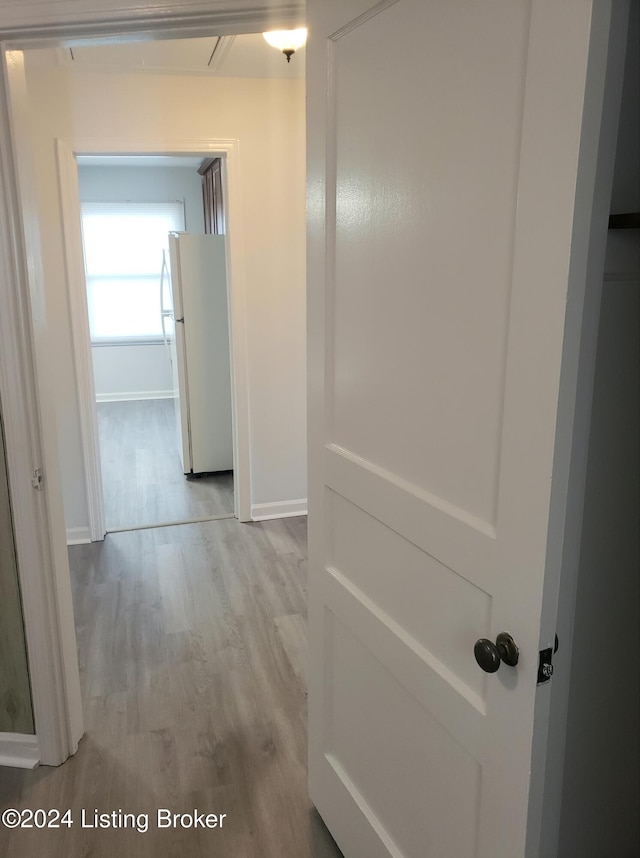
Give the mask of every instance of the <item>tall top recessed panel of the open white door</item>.
[{"label": "tall top recessed panel of the open white door", "polygon": [[[438,14],[428,3],[390,4],[335,39],[328,140],[337,211],[332,440],[490,526],[520,143],[519,123],[491,119],[522,113],[529,11],[509,0],[493,6],[495,17],[483,3],[448,3]],[[425,32],[455,49],[425,49]],[[395,51],[381,62],[390,45],[412,57],[410,70]],[[468,74],[460,56],[481,73]],[[407,74],[420,82],[427,116],[411,106]],[[390,137],[392,151],[370,145]],[[441,372],[425,371],[444,366],[446,386]],[[407,425],[429,438],[419,458],[404,442]]]}]

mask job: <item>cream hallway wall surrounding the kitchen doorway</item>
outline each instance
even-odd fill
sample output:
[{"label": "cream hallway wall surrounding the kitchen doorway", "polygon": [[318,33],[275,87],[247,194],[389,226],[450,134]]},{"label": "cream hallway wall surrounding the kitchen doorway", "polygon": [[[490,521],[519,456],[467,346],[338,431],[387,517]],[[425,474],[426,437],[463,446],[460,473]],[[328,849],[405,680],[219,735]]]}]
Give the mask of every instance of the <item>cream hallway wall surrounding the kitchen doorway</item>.
[{"label": "cream hallway wall surrounding the kitchen doorway", "polygon": [[87,515],[57,137],[239,141],[242,222],[236,226],[246,250],[252,505],[306,498],[304,82],[76,74],[32,67],[28,55],[26,67],[46,300],[56,330],[51,358],[67,528],[86,526]]}]

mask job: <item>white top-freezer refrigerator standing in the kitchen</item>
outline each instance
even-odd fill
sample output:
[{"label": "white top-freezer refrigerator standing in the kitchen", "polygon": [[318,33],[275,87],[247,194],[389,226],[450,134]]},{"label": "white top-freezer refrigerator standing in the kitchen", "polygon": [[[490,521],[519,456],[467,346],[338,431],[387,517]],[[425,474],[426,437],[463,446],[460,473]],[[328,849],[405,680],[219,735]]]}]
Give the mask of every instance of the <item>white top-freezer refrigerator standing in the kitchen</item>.
[{"label": "white top-freezer refrigerator standing in the kitchen", "polygon": [[187,476],[233,468],[224,245],[223,235],[170,233],[162,265],[162,329]]}]

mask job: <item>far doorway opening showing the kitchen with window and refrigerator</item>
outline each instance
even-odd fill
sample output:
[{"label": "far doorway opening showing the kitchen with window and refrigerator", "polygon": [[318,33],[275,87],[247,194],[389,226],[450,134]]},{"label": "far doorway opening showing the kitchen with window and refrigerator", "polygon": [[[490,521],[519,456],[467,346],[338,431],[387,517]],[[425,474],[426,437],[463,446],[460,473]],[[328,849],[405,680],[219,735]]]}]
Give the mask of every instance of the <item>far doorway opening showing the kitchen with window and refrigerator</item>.
[{"label": "far doorway opening showing the kitchen with window and refrigerator", "polygon": [[203,158],[76,161],[104,528],[232,517],[225,239],[205,234]]}]

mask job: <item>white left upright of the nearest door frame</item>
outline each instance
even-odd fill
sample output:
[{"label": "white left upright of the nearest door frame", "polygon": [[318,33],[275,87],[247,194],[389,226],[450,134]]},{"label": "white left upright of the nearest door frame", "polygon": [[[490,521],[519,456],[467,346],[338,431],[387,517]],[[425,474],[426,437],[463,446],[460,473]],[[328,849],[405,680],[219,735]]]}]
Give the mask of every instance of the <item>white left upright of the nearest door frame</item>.
[{"label": "white left upright of the nearest door frame", "polygon": [[[57,428],[46,377],[35,192],[29,165],[15,157],[12,135],[27,121],[22,55],[6,57],[3,51],[0,65],[0,397],[40,759],[59,765],[75,753],[83,733],[80,677]],[[35,491],[30,477],[39,467],[44,483]]]}]

